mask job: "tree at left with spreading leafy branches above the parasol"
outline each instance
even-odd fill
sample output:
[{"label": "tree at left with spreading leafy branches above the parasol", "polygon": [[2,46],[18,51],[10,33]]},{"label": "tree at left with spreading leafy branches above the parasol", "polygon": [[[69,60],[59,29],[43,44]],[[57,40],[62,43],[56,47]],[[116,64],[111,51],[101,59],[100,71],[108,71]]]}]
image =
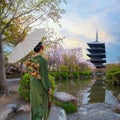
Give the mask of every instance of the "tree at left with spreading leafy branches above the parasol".
[{"label": "tree at left with spreading leafy branches above the parasol", "polygon": [[10,42],[11,40],[12,44],[16,44],[24,39],[29,27],[35,24],[42,24],[49,18],[59,23],[61,14],[64,13],[64,10],[60,8],[61,2],[61,0],[0,1],[0,93],[8,93],[2,47],[3,41]]}]

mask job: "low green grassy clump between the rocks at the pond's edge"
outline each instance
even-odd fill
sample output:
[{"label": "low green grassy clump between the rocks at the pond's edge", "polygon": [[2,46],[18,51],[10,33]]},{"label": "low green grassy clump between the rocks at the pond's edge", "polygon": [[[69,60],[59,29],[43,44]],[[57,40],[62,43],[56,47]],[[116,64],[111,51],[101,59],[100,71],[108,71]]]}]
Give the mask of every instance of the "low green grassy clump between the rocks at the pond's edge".
[{"label": "low green grassy clump between the rocks at the pond's edge", "polygon": [[67,114],[77,112],[77,106],[75,104],[73,104],[72,102],[61,102],[61,101],[55,99],[54,103],[57,106],[62,107]]}]

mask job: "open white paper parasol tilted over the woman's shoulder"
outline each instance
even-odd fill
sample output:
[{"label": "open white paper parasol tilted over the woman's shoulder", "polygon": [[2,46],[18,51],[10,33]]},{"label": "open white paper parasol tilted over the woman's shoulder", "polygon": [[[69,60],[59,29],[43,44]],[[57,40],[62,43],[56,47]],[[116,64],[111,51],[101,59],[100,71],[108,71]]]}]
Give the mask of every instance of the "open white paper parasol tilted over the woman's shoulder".
[{"label": "open white paper parasol tilted over the woman's shoulder", "polygon": [[9,55],[8,62],[15,63],[24,58],[41,41],[44,35],[44,28],[34,30],[23,41],[17,44],[12,53]]}]

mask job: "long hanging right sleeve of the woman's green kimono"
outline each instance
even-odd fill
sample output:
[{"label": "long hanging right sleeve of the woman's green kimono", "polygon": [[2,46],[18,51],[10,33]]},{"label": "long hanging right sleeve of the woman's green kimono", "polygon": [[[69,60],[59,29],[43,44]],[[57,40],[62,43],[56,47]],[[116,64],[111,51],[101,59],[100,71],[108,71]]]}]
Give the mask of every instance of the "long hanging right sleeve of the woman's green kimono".
[{"label": "long hanging right sleeve of the woman's green kimono", "polygon": [[39,71],[40,71],[40,76],[41,76],[43,86],[46,89],[46,91],[48,91],[50,89],[50,82],[48,78],[47,62],[42,58],[40,59]]}]

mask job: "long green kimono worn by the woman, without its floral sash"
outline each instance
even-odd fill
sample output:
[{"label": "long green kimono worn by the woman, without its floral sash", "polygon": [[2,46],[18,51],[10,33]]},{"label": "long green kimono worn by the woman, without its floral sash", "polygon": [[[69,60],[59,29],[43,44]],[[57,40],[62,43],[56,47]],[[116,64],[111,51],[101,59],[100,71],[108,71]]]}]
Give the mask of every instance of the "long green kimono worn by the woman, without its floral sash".
[{"label": "long green kimono worn by the woman, without its floral sash", "polygon": [[39,63],[41,79],[32,77],[30,81],[31,120],[47,120],[49,115],[50,82],[48,79],[47,61],[42,56],[36,56],[33,62]]}]

